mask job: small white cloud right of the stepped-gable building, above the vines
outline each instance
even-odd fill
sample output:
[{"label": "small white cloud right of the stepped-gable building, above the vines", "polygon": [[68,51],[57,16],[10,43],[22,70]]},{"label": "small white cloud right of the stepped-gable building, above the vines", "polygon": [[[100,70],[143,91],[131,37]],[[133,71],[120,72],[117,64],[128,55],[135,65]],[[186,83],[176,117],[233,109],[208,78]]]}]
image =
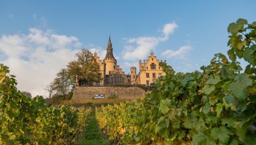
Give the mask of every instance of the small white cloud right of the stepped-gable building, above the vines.
[{"label": "small white cloud right of the stepped-gable building, above the vines", "polygon": [[180,47],[179,50],[173,51],[173,50],[166,50],[162,53],[163,57],[167,58],[174,58],[179,60],[185,60],[187,56],[189,55],[189,51],[192,49],[190,45],[185,45]]}]

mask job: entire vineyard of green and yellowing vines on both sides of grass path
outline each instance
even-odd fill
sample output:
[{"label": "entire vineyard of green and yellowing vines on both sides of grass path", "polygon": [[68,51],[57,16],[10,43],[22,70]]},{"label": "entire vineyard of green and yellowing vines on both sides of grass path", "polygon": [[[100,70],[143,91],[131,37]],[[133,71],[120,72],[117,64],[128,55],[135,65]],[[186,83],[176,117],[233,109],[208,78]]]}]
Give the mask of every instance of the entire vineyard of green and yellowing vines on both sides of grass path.
[{"label": "entire vineyard of green and yellowing vines on both sides of grass path", "polygon": [[[111,144],[255,144],[256,22],[228,26],[228,56],[218,53],[201,72],[166,76],[140,100],[63,101],[95,106],[99,127]],[[248,65],[242,72],[237,61]],[[0,144],[73,144],[94,109],[46,107],[41,96],[20,93],[8,67],[0,69]],[[108,104],[108,105],[106,105]]]}]

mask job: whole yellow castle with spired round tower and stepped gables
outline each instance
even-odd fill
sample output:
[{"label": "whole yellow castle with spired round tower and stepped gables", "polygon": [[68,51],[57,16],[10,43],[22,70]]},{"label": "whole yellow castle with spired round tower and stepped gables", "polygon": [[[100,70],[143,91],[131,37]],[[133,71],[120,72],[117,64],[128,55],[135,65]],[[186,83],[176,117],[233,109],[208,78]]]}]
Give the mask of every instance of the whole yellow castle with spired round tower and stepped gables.
[{"label": "whole yellow castle with spired round tower and stepped gables", "polygon": [[[156,83],[156,79],[160,76],[164,76],[165,73],[162,67],[159,66],[157,57],[151,52],[148,56],[148,60],[139,62],[139,72],[136,73],[136,67],[130,68],[130,74],[125,74],[122,68],[117,64],[117,61],[113,55],[113,47],[111,44],[110,36],[108,46],[106,48],[106,56],[104,60],[100,60],[97,53],[94,53],[95,60],[99,64],[100,72],[102,73],[102,81],[94,83],[94,85],[117,85],[117,84],[130,84],[130,85],[147,85],[150,86]],[[166,60],[164,60],[166,63]]]}]

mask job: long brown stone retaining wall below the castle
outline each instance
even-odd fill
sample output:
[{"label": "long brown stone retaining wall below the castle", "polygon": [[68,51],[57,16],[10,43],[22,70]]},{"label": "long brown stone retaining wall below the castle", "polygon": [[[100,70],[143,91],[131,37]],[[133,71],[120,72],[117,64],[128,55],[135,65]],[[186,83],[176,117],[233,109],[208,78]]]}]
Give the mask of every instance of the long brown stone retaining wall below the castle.
[{"label": "long brown stone retaining wall below the castle", "polygon": [[76,87],[72,100],[91,100],[95,94],[103,94],[105,99],[113,94],[120,99],[139,99],[145,90],[138,87]]}]

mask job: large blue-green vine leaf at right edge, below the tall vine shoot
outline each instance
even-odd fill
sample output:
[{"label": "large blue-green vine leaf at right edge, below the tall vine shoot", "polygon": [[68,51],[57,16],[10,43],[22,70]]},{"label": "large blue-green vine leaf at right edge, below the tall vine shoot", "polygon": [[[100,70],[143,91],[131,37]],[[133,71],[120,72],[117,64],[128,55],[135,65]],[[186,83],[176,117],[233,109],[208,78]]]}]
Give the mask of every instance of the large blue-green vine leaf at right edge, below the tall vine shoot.
[{"label": "large blue-green vine leaf at right edge, below the tall vine shoot", "polygon": [[234,79],[235,82],[230,84],[230,90],[238,100],[247,98],[247,87],[252,85],[252,79],[247,74],[238,74]]}]

